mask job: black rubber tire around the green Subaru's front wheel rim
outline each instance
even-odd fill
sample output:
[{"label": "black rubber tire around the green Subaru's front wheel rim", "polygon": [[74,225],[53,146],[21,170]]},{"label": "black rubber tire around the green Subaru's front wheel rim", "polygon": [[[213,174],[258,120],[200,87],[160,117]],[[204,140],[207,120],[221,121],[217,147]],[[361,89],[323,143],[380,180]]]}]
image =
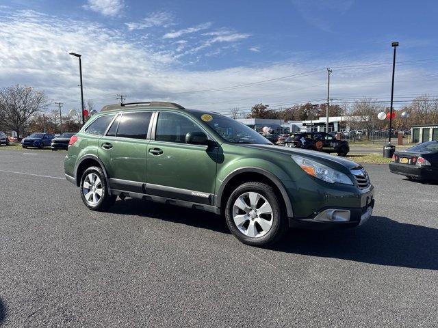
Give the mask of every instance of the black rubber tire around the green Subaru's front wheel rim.
[{"label": "black rubber tire around the green Subaru's front wheel rim", "polygon": [[[233,205],[238,197],[248,192],[256,192],[266,198],[272,208],[272,226],[270,230],[263,236],[250,237],[246,236],[237,228],[233,219]],[[263,182],[246,182],[237,187],[227,200],[225,206],[225,220],[229,230],[234,236],[244,244],[252,246],[267,246],[279,241],[283,234],[287,231],[287,215],[285,209],[282,208],[279,202],[281,195],[276,195],[274,188]]]}]

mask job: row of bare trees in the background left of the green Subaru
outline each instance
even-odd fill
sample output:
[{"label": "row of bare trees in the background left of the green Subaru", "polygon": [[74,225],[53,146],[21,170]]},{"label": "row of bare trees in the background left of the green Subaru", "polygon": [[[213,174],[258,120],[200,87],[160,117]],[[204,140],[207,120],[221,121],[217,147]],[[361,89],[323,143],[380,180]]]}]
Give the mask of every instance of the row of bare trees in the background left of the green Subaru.
[{"label": "row of bare trees in the background left of the green Subaru", "polygon": [[[81,116],[62,115],[62,126],[59,110],[48,111],[51,101],[44,92],[33,87],[12,85],[0,89],[0,131],[15,131],[18,137],[29,133],[47,131],[61,133],[78,131]],[[87,102],[88,112],[94,104]],[[80,112],[80,111],[79,111]]]}]

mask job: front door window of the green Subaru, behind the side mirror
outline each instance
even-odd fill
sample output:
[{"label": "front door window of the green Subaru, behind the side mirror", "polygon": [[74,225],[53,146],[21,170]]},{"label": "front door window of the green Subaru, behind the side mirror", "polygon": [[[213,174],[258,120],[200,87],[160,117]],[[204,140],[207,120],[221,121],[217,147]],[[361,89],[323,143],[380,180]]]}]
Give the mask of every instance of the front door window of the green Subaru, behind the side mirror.
[{"label": "front door window of the green Subaru, behind the side mirror", "polygon": [[189,132],[203,132],[192,120],[178,113],[162,111],[158,115],[155,140],[185,143]]}]

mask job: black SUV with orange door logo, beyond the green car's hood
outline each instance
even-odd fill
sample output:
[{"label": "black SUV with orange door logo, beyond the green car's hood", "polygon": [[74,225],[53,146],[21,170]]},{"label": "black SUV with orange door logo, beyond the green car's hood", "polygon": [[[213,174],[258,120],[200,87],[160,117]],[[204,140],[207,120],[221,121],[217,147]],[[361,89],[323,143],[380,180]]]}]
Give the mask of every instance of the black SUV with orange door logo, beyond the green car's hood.
[{"label": "black SUV with orange door logo, beyond the green car's hood", "polygon": [[286,139],[285,146],[329,153],[337,152],[339,156],[346,156],[350,151],[348,141],[336,139],[325,132],[304,132],[291,135]]}]

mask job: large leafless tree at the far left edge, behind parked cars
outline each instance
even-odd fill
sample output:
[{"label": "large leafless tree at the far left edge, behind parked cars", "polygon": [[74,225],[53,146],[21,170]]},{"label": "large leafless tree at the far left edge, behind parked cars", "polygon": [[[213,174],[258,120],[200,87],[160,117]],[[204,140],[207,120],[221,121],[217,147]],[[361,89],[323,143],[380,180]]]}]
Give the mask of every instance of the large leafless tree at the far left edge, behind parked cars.
[{"label": "large leafless tree at the far left edge, behind parked cars", "polygon": [[0,90],[0,120],[18,137],[25,131],[32,115],[48,106],[47,96],[32,87],[17,84]]}]

